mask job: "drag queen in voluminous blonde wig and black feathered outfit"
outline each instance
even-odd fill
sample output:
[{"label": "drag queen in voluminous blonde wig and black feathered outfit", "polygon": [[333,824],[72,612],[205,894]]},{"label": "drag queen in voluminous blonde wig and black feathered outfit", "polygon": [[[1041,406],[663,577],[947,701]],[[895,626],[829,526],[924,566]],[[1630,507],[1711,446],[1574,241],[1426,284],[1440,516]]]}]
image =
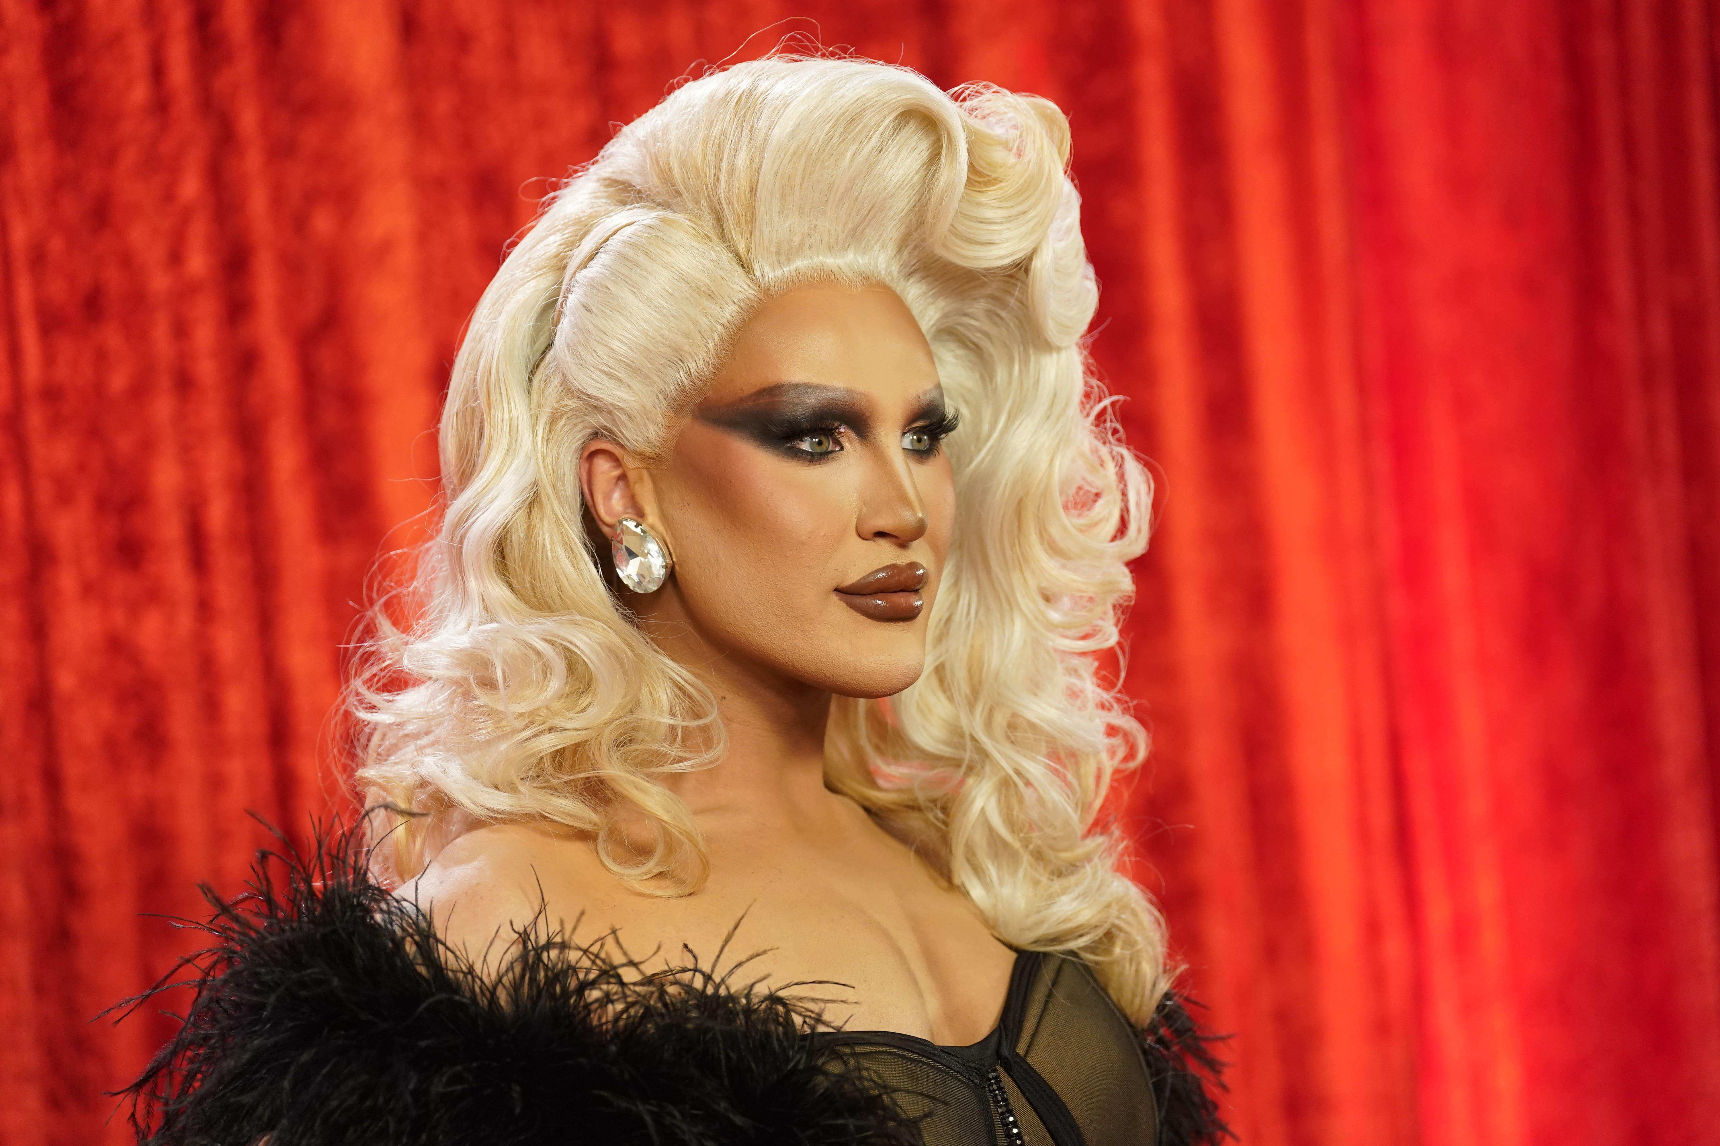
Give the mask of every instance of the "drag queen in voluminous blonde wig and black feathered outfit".
[{"label": "drag queen in voluminous blonde wig and black feathered outfit", "polygon": [[366,845],[220,907],[143,1139],[1216,1141],[1096,825],[1149,490],[1068,146],[1044,100],[777,57],[549,199],[353,687]]}]

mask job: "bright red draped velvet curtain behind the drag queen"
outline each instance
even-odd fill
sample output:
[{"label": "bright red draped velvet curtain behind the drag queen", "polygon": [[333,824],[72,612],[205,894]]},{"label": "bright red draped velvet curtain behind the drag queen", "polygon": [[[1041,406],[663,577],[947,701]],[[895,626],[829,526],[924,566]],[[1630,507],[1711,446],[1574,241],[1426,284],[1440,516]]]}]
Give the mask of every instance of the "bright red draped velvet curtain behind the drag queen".
[{"label": "bright red draped velvet curtain behind the drag queen", "polygon": [[1163,476],[1115,806],[1242,1139],[1720,1141],[1703,0],[0,0],[0,1141],[122,1141],[141,912],[342,806],[545,180],[796,29],[1070,113]]}]

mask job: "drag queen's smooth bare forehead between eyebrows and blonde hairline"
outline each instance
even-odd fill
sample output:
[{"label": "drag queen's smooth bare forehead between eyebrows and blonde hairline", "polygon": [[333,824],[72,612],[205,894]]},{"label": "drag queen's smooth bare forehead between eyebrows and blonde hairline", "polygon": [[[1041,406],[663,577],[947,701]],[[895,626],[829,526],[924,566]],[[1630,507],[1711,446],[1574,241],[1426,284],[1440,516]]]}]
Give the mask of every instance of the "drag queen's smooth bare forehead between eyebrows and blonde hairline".
[{"label": "drag queen's smooth bare forehead between eyebrows and blonde hairline", "polygon": [[937,368],[894,290],[810,285],[784,290],[746,320],[703,400],[733,400],[783,381],[906,399],[937,385]]}]

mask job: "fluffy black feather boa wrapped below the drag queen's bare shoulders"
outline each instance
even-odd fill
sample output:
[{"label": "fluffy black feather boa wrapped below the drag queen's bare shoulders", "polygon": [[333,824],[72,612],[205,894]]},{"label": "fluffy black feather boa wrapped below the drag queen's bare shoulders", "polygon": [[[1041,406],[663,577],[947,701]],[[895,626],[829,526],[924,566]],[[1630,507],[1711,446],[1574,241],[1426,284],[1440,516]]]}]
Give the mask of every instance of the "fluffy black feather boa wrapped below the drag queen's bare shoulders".
[{"label": "fluffy black feather boa wrapped below the drag queen's bare shoulders", "polygon": [[[817,1057],[805,1003],[688,966],[647,974],[550,933],[480,974],[356,852],[261,852],[246,895],[205,888],[196,990],[124,1091],[148,1146],[906,1146],[918,1127],[863,1067]],[[721,959],[721,955],[719,955]],[[132,1005],[143,1002],[131,1000]],[[1159,1141],[1223,1125],[1216,1070],[1175,998],[1142,1034]]]}]

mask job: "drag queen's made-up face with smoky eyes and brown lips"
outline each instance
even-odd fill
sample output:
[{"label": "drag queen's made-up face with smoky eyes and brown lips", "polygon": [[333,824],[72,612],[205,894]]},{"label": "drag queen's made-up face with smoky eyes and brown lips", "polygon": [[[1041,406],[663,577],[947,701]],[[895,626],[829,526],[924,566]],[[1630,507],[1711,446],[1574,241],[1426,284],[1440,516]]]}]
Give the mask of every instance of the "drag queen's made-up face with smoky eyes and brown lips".
[{"label": "drag queen's made-up face with smoky eyes and brown lips", "polygon": [[666,455],[631,474],[674,572],[628,605],[671,655],[681,634],[731,668],[900,692],[924,667],[949,550],[953,428],[931,347],[891,290],[777,296]]}]

